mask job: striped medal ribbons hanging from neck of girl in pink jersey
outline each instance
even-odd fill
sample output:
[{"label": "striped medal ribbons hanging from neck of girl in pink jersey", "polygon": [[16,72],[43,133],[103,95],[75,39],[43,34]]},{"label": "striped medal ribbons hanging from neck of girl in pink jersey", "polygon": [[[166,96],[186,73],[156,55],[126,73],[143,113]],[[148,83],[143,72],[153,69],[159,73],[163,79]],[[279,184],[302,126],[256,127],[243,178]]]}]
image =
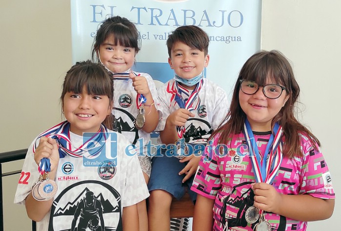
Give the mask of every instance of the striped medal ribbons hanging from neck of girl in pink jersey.
[{"label": "striped medal ribbons hanging from neck of girl in pink jersey", "polygon": [[[252,133],[250,123],[245,119],[243,133],[249,147],[251,164],[253,171],[255,173],[256,182],[265,182],[271,184],[280,169],[282,161],[282,128],[278,123],[274,126],[274,135],[271,134],[270,139],[266,145],[265,153],[261,161],[261,155],[259,153],[255,137]],[[266,162],[267,156],[269,154],[269,149],[272,146],[268,162]]]}]

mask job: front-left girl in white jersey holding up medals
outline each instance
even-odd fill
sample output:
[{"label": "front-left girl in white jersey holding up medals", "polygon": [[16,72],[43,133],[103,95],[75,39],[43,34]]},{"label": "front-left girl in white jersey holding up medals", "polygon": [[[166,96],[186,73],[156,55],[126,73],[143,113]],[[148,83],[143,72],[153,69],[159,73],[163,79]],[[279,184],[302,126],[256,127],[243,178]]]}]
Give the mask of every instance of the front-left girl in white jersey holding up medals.
[{"label": "front-left girl in white jersey holding up medals", "polygon": [[[113,79],[102,64],[78,62],[60,97],[66,121],[40,134],[25,157],[15,203],[47,230],[138,230],[148,197],[137,155],[109,128]],[[91,136],[89,136],[91,135]]]}]

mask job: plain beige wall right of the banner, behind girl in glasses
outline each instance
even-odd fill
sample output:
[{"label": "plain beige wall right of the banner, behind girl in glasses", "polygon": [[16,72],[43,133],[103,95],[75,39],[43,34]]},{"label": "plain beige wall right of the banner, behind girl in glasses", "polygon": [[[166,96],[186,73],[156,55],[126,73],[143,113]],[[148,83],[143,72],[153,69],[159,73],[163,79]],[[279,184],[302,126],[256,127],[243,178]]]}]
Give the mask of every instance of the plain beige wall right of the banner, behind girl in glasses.
[{"label": "plain beige wall right of the banner, behind girl in glasses", "polygon": [[[261,48],[278,49],[293,63],[303,104],[298,118],[320,139],[337,196],[341,192],[340,9],[338,0],[263,0],[261,23]],[[339,202],[330,219],[308,223],[308,231],[340,230]]]}]

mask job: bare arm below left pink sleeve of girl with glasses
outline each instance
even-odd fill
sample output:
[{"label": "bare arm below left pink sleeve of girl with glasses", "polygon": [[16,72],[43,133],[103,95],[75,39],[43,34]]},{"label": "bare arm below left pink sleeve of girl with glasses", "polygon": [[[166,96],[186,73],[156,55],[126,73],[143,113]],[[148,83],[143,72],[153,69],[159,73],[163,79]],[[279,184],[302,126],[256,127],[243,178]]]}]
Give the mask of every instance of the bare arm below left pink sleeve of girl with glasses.
[{"label": "bare arm below left pink sleeve of girl with glasses", "polygon": [[193,230],[211,231],[213,227],[213,205],[214,199],[204,197],[200,194],[194,207]]}]

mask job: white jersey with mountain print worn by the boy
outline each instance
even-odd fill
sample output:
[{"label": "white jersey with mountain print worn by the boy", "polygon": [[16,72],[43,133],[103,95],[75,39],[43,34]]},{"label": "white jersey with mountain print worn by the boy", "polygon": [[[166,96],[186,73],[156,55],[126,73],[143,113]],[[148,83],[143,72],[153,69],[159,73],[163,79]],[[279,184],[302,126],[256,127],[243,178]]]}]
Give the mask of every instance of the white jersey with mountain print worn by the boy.
[{"label": "white jersey with mountain print worn by the boy", "polygon": [[[173,94],[167,91],[168,85],[172,86],[174,82],[175,80],[171,79],[158,89],[162,117],[155,131],[162,131],[167,117],[180,109]],[[186,95],[181,96],[185,100],[188,98]],[[206,143],[207,138],[227,115],[229,105],[225,91],[207,78],[203,78],[202,88],[193,102],[194,110],[191,111],[195,116],[189,117],[185,123],[186,132],[183,137],[186,143]]]}]

